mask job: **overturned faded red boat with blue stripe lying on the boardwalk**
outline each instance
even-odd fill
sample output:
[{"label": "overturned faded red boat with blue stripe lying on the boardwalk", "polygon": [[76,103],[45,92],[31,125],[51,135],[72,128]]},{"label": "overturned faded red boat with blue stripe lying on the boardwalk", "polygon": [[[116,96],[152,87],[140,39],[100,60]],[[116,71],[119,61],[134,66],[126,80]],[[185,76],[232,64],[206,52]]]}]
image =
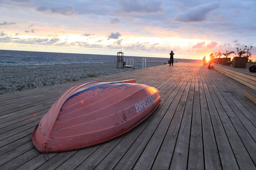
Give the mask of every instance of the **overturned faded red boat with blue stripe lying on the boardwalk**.
[{"label": "overturned faded red boat with blue stripe lying on the boardwalk", "polygon": [[40,152],[75,150],[109,141],[133,129],[160,103],[155,87],[91,81],[69,88],[32,133]]}]

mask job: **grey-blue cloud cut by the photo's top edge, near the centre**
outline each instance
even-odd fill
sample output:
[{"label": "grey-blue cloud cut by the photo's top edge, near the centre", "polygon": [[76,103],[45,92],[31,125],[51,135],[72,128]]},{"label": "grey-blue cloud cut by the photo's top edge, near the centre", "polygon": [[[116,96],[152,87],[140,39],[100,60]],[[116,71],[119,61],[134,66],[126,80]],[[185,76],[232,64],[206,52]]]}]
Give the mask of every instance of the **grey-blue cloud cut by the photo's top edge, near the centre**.
[{"label": "grey-blue cloud cut by the photo's top edge, near the centre", "polygon": [[163,11],[162,2],[150,0],[119,0],[122,11],[138,14],[156,14]]}]

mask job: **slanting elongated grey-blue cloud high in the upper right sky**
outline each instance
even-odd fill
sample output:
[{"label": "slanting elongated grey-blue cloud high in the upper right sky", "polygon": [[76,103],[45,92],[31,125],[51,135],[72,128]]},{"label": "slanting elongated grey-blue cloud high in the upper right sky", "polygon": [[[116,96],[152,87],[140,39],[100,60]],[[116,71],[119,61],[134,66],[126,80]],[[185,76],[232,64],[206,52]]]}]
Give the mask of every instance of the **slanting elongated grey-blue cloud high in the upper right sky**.
[{"label": "slanting elongated grey-blue cloud high in the upper right sky", "polygon": [[173,22],[203,22],[204,20],[206,20],[207,14],[209,14],[210,11],[213,11],[218,7],[220,7],[220,3],[216,1],[211,3],[204,3],[203,5],[190,8],[187,12],[183,14],[176,15]]}]

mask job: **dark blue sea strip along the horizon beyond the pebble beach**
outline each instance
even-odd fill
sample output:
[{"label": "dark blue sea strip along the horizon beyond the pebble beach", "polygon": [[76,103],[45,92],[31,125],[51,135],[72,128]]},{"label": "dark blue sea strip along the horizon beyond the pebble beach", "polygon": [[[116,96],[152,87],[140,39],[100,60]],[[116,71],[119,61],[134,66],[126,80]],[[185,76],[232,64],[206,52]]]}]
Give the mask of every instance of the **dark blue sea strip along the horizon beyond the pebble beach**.
[{"label": "dark blue sea strip along the horizon beyond the pebble beach", "polygon": [[[168,56],[168,54],[167,54]],[[125,59],[134,59],[134,62],[168,63],[169,58],[159,57],[135,57],[124,56]],[[0,66],[25,66],[25,65],[64,65],[74,63],[113,63],[117,62],[116,55],[99,54],[74,54],[74,53],[51,53],[51,52],[28,52],[18,50],[0,50]],[[174,59],[174,62],[201,62],[196,59]]]}]

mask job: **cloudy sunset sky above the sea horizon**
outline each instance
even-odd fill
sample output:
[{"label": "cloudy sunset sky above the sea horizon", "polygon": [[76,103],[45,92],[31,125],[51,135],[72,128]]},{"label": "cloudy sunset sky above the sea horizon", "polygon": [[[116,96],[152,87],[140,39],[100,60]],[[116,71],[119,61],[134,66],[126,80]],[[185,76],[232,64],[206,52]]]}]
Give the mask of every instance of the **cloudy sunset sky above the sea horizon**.
[{"label": "cloudy sunset sky above the sea horizon", "polygon": [[3,50],[202,59],[253,46],[256,56],[255,0],[0,0],[0,16]]}]

